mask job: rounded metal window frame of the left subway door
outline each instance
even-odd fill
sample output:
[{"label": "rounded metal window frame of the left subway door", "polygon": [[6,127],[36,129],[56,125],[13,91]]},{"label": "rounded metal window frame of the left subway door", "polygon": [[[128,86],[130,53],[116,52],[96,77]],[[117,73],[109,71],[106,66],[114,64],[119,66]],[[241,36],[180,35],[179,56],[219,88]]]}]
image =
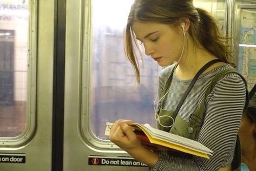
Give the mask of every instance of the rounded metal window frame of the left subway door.
[{"label": "rounded metal window frame of the left subway door", "polygon": [[16,137],[0,137],[0,149],[19,148],[27,144],[36,131],[36,75],[37,75],[37,1],[29,0],[28,63],[27,63],[27,113],[26,127]]}]

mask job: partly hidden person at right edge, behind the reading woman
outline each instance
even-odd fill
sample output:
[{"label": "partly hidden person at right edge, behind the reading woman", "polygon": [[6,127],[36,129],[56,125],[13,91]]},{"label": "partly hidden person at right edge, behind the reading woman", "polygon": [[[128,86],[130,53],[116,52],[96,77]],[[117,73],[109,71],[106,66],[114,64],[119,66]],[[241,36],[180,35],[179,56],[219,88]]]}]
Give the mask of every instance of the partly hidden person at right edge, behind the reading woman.
[{"label": "partly hidden person at right edge, behind the reading woman", "polygon": [[242,117],[239,137],[242,148],[242,171],[256,170],[256,85],[250,92],[250,102]]}]

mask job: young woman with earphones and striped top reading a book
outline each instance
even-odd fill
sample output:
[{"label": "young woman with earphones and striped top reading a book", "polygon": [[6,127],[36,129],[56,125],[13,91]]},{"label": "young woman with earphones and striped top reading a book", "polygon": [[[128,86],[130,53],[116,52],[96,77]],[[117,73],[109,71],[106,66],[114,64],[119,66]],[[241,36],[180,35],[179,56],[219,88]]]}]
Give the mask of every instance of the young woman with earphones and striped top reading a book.
[{"label": "young woman with earphones and striped top reading a book", "polygon": [[[135,0],[125,40],[126,55],[140,82],[136,39],[146,55],[166,67],[159,75],[157,128],[199,141],[214,153],[208,160],[152,151],[141,144],[129,127],[133,121],[127,120],[115,122],[110,140],[152,170],[231,170],[246,86],[237,73],[219,75],[233,69],[233,64],[214,18],[188,0]],[[210,61],[215,63],[200,73]],[[197,126],[187,126],[191,122]]]}]

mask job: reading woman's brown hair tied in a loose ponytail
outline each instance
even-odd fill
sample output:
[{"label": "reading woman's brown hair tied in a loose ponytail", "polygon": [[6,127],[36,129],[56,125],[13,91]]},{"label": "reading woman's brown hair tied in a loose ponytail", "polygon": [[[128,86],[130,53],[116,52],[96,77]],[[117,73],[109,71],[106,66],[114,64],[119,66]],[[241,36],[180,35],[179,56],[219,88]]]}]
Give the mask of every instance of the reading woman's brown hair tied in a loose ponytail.
[{"label": "reading woman's brown hair tied in a loose ponytail", "polygon": [[207,11],[195,8],[192,0],[135,0],[124,34],[124,50],[128,60],[133,64],[137,82],[140,83],[140,70],[134,51],[134,43],[137,48],[138,45],[132,30],[133,22],[157,22],[178,26],[182,17],[189,18],[188,32],[196,44],[201,44],[208,52],[234,66],[229,50],[230,38],[222,37],[215,19]]}]

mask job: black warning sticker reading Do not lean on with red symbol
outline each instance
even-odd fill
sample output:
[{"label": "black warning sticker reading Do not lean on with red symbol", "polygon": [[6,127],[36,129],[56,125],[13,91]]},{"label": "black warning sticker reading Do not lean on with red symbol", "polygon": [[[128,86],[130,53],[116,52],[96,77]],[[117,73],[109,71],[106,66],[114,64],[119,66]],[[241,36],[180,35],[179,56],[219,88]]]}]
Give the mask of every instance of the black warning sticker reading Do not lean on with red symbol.
[{"label": "black warning sticker reading Do not lean on with red symbol", "polygon": [[132,157],[105,157],[105,156],[89,156],[88,165],[147,167],[147,165],[133,159]]}]

